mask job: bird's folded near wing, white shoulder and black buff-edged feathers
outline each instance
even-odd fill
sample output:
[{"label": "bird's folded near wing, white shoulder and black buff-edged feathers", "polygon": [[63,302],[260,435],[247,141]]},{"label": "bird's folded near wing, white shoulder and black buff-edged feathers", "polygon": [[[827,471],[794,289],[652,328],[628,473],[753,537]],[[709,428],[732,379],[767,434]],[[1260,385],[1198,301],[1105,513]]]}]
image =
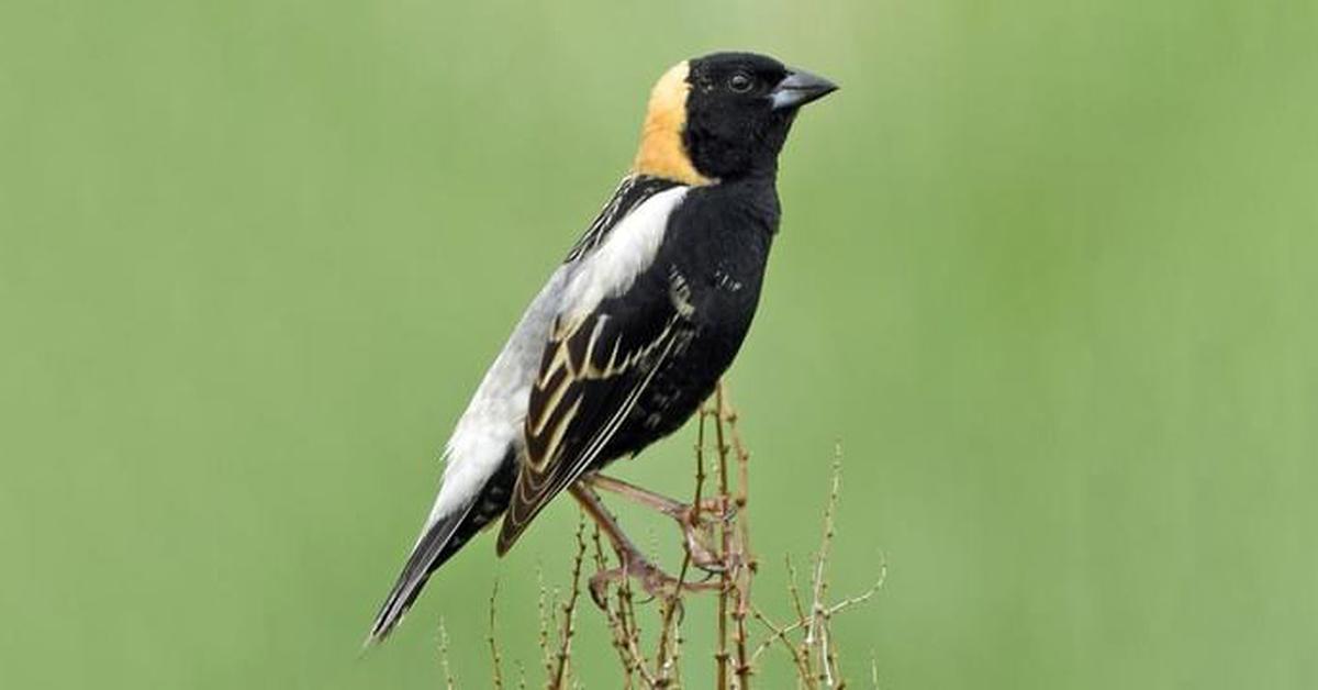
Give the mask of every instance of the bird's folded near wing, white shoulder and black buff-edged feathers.
[{"label": "bird's folded near wing, white shoulder and black buff-edged feathers", "polygon": [[[689,311],[655,264],[685,194],[670,181],[623,181],[568,261],[573,270],[548,329],[523,426],[525,454],[498,553],[560,491],[610,453],[654,373],[689,336]],[[652,203],[647,203],[652,202]]]}]

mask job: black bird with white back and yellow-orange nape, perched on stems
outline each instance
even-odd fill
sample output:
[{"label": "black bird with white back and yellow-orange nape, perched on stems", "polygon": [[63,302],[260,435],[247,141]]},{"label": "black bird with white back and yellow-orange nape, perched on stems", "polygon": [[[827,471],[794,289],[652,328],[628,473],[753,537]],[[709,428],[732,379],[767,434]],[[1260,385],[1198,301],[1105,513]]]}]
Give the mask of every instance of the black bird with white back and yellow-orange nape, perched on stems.
[{"label": "black bird with white back and yellow-orange nape, perched on stems", "polygon": [[731,365],[779,228],[779,153],[799,110],[837,88],[743,51],[685,59],[659,78],[630,170],[459,418],[434,507],[368,645],[474,536],[502,518],[496,551],[506,554],[564,489],[614,548],[633,549],[581,484],[663,503],[598,471],[681,427]]}]

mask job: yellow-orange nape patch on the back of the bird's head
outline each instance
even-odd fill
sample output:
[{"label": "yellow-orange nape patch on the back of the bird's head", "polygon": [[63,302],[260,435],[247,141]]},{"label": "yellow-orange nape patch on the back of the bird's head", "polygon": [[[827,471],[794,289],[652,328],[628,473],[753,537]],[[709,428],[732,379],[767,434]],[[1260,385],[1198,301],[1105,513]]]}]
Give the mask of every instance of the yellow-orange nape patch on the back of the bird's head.
[{"label": "yellow-orange nape patch on the back of the bird's head", "polygon": [[646,121],[641,127],[641,149],[631,170],[643,175],[662,177],[684,185],[710,185],[714,181],[696,172],[681,144],[681,131],[687,127],[687,73],[685,61],[664,73],[650,92]]}]

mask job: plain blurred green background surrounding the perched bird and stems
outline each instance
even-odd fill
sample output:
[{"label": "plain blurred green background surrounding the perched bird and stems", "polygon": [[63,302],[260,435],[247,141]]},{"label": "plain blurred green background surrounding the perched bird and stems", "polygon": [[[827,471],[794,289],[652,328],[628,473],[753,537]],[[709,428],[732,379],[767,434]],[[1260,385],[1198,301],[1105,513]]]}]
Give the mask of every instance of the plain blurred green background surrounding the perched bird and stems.
[{"label": "plain blurred green background surrounding the perched bird and stems", "polygon": [[0,683],[438,687],[443,615],[481,686],[494,577],[534,672],[567,501],[358,644],[650,83],[745,47],[844,87],[731,373],[760,603],[841,441],[857,681],[1318,686],[1315,46],[1311,0],[0,3]]}]

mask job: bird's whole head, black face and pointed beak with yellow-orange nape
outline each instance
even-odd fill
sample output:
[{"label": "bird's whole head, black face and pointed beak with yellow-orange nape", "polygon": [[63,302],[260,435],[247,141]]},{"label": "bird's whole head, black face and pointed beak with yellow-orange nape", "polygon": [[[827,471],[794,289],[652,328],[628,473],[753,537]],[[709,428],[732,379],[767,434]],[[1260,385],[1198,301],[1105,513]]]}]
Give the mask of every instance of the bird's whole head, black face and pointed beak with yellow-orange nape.
[{"label": "bird's whole head, black face and pointed beak with yellow-orange nape", "polygon": [[654,88],[635,169],[687,183],[772,174],[796,111],[836,90],[754,53],[685,61]]}]

